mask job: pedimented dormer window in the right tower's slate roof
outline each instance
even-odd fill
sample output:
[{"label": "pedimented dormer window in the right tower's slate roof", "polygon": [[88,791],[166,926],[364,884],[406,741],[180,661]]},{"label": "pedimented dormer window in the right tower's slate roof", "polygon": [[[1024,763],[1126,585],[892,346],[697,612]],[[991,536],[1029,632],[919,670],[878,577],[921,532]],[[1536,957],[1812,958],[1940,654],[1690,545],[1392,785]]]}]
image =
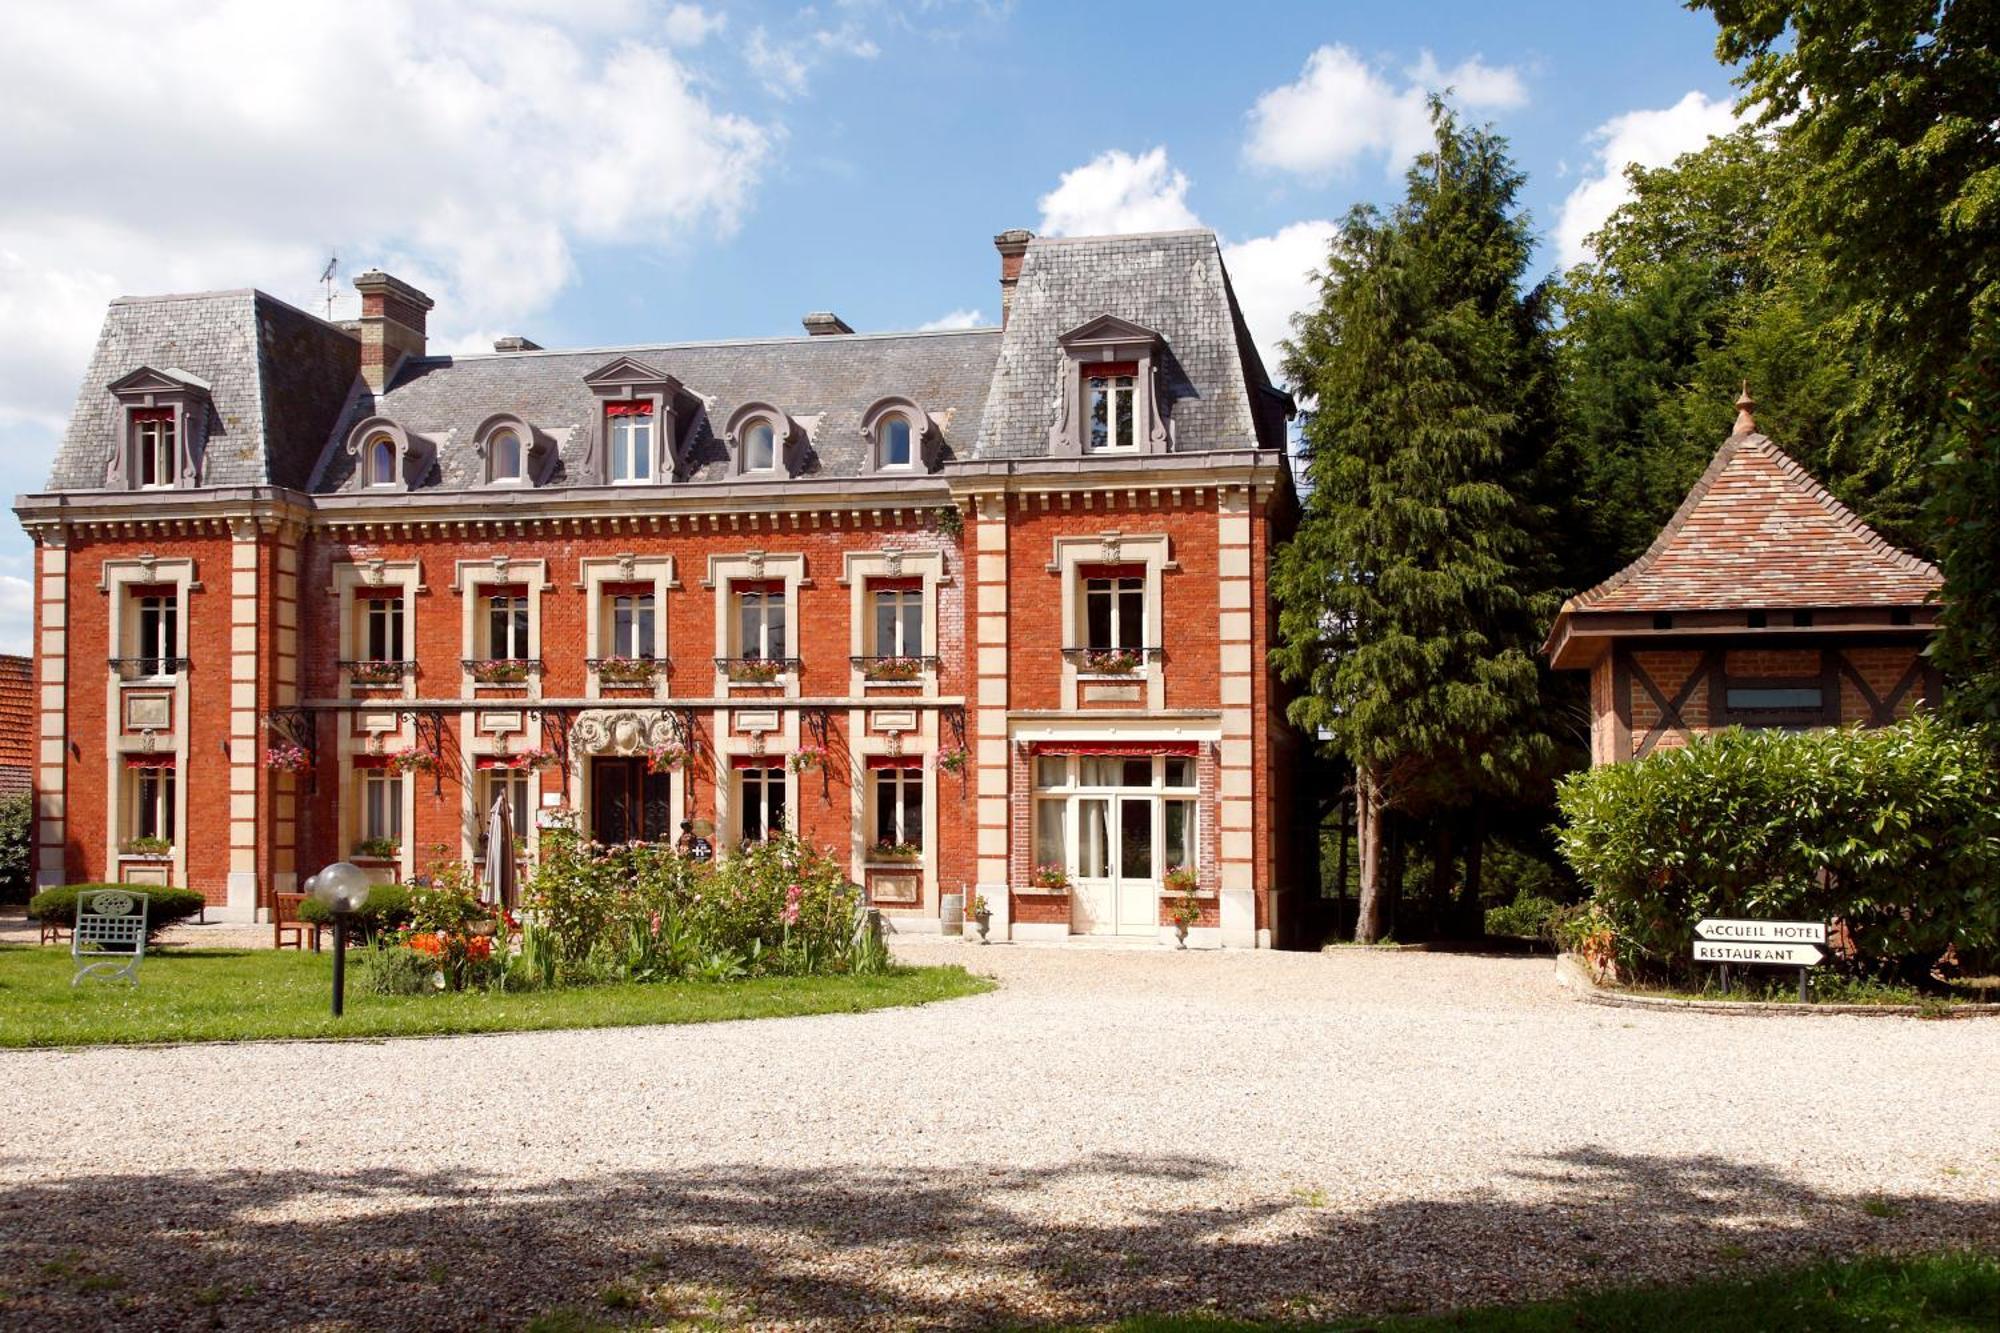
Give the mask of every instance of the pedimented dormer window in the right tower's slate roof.
[{"label": "pedimented dormer window in the right tower's slate roof", "polygon": [[1054,454],[1164,454],[1172,426],[1160,400],[1166,344],[1150,328],[1114,314],[1078,324],[1062,346]]}]

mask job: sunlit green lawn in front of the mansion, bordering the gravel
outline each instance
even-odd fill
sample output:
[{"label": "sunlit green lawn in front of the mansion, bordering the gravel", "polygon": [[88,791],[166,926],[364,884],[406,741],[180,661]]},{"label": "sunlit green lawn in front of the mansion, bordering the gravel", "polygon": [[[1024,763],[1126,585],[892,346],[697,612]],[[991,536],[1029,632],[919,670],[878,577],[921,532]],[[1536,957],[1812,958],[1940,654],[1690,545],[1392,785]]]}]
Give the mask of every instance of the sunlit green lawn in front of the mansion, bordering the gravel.
[{"label": "sunlit green lawn in front of the mansion, bordering the gravel", "polygon": [[86,1047],[258,1037],[428,1037],[548,1027],[716,1023],[860,1013],[992,989],[962,967],[898,967],[882,977],[758,977],[730,983],[604,985],[566,991],[370,995],[348,955],[348,1013],[330,1015],[330,953],[164,949],[134,991],[70,987],[68,949],[0,947],[0,1047]]}]

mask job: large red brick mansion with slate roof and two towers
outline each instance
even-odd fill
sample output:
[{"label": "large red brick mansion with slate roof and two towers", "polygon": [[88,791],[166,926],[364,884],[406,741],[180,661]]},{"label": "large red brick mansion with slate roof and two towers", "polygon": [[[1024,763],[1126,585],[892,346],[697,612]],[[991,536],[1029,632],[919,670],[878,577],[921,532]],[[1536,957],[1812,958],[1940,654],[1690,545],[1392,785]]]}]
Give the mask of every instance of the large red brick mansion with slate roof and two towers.
[{"label": "large red brick mansion with slate roof and two towers", "polygon": [[[430,356],[380,272],[114,302],[38,546],[38,879],[224,913],[478,853],[832,847],[896,929],[1270,943],[1274,390],[1208,232],[996,238],[1002,328]],[[1068,893],[1036,883],[1056,867]]]}]

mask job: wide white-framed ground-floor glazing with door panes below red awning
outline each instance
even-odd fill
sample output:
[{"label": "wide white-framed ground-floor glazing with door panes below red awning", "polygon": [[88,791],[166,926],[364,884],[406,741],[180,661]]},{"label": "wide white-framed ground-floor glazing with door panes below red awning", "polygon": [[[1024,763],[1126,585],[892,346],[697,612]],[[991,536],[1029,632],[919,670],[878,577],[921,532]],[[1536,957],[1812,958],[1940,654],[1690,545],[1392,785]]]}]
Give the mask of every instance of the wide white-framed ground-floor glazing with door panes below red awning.
[{"label": "wide white-framed ground-floor glazing with door panes below red awning", "polygon": [[[1134,809],[1126,809],[1134,807]],[[1034,863],[1074,879],[1158,877],[1198,869],[1198,793],[1190,755],[1040,755],[1034,761]]]}]

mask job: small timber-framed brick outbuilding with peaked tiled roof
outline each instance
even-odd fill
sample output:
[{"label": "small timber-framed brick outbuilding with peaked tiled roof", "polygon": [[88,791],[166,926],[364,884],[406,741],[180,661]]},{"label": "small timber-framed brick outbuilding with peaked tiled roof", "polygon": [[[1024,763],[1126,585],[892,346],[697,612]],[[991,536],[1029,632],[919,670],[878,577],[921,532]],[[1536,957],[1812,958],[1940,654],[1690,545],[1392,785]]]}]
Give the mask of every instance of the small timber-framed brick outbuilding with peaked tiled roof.
[{"label": "small timber-framed brick outbuilding with peaked tiled roof", "polygon": [[1938,570],[1758,434],[1736,430],[1638,560],[1562,604],[1554,666],[1590,673],[1590,761],[1722,727],[1880,727],[1938,701]]}]

